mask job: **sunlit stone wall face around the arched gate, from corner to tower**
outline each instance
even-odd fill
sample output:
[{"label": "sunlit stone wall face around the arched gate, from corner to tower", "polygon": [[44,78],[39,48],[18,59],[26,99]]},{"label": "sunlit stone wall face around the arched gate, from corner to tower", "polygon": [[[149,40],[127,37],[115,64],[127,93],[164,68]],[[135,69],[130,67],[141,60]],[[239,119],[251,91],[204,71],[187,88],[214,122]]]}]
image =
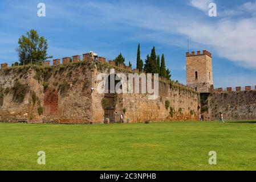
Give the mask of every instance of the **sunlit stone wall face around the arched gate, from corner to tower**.
[{"label": "sunlit stone wall face around the arched gate, from corner to tower", "polygon": [[[96,77],[100,73],[109,74],[109,68],[98,65],[97,73],[94,73],[94,85],[96,88],[100,81]],[[112,66],[115,73],[132,73],[126,69]],[[134,72],[133,72],[134,73]],[[127,76],[128,77],[128,76]],[[97,83],[97,84],[96,84]],[[133,84],[133,90],[134,88]],[[128,87],[128,85],[127,85]],[[141,88],[141,81],[140,81]],[[140,89],[141,91],[141,89]],[[170,82],[166,79],[159,80],[159,97],[155,100],[149,99],[150,94],[124,93],[118,94],[115,107],[115,122],[120,120],[120,114],[124,114],[124,122],[145,122],[145,121],[179,121],[179,120],[198,120],[200,112],[200,94],[185,85]],[[95,90],[92,96],[95,121],[103,122],[104,110],[100,109],[101,100],[104,94],[99,94]],[[166,101],[169,106],[166,109]]]}]

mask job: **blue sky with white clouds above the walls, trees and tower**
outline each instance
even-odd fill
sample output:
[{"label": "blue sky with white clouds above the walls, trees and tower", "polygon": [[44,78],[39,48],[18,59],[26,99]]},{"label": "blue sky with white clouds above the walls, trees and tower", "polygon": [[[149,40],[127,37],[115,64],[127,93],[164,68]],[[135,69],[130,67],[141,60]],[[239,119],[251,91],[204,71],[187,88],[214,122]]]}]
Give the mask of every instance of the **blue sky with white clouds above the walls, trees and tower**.
[{"label": "blue sky with white clouds above the walls, trees and tower", "polygon": [[[46,4],[46,17],[37,5]],[[208,5],[217,5],[217,17]],[[136,66],[156,47],[172,79],[185,84],[185,52],[213,53],[215,87],[256,85],[256,2],[246,0],[0,1],[0,63],[18,60],[18,38],[35,28],[54,58],[94,51],[107,59],[120,52]]]}]

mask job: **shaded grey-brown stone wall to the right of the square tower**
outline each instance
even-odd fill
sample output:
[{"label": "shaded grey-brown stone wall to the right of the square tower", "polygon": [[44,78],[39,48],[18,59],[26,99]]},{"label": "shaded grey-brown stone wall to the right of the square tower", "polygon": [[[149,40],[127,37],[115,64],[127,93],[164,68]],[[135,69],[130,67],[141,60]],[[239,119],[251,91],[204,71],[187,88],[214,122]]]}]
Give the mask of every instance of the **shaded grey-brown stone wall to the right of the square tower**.
[{"label": "shaded grey-brown stone wall to the right of the square tower", "polygon": [[201,94],[201,112],[205,120],[256,118],[256,90]]}]

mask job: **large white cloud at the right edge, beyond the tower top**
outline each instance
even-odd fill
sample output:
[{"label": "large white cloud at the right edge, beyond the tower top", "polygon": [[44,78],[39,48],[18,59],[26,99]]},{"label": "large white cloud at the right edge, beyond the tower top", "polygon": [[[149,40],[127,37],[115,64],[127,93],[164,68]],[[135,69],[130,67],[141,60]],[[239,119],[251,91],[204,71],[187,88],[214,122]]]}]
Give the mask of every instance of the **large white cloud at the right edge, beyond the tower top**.
[{"label": "large white cloud at the right edge, beyond the tower top", "polygon": [[225,19],[213,24],[194,22],[179,30],[194,42],[214,48],[219,56],[256,69],[256,18]]}]

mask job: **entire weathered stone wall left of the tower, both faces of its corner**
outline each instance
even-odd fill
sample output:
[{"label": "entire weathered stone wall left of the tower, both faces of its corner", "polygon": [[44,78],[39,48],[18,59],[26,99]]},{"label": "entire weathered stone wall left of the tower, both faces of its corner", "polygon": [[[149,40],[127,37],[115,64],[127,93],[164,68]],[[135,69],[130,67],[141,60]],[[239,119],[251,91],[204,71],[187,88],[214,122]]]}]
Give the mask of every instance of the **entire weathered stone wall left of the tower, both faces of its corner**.
[{"label": "entire weathered stone wall left of the tower, both faces of its corner", "polygon": [[[72,60],[72,61],[71,61]],[[80,60],[79,56],[44,61],[43,65],[8,67],[0,70],[0,122],[104,123],[104,93],[97,92],[100,73],[137,73],[104,57]],[[141,81],[140,81],[141,84]],[[200,94],[185,85],[159,78],[159,96],[148,93],[115,94],[115,122],[198,120]],[[125,113],[124,113],[125,110]]]}]

